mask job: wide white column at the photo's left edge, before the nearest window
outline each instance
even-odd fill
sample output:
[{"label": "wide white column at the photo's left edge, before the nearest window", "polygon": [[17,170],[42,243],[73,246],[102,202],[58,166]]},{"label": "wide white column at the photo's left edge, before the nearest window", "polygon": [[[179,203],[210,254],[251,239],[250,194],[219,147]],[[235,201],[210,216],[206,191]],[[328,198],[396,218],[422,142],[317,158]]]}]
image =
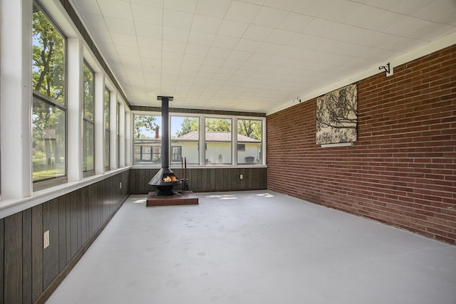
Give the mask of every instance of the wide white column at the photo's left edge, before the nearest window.
[{"label": "wide white column at the photo's left edge, before the nearest window", "polygon": [[0,1],[1,196],[32,194],[32,1]]}]

